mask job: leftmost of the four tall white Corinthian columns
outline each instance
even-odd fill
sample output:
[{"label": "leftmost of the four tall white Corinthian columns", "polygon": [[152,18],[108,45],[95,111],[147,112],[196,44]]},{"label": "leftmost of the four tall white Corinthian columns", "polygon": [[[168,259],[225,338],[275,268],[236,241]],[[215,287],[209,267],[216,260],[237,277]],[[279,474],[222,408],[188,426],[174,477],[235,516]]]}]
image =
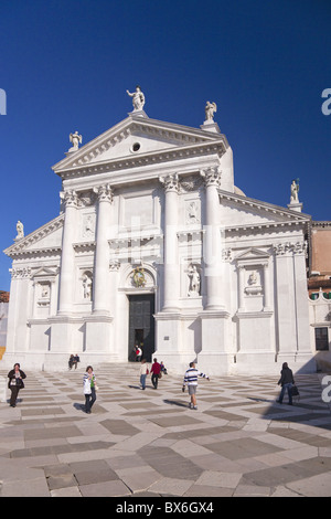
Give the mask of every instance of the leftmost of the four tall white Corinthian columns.
[{"label": "leftmost of the four tall white Corinthian columns", "polygon": [[65,216],[62,234],[62,254],[58,287],[58,315],[67,315],[72,311],[74,293],[74,268],[75,253],[73,243],[75,242],[75,231],[77,227],[77,193],[75,191],[64,191],[61,198],[65,204]]}]

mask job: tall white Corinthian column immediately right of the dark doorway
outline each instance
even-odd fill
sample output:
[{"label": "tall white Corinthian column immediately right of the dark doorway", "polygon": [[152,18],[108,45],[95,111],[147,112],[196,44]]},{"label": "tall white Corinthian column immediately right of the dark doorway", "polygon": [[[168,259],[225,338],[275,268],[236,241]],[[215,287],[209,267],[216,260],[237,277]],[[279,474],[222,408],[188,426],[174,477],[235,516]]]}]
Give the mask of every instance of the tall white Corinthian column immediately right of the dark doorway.
[{"label": "tall white Corinthian column immediately right of the dark doorway", "polygon": [[178,265],[178,174],[160,178],[166,192],[164,211],[164,304],[163,310],[174,311],[179,308],[179,265]]}]

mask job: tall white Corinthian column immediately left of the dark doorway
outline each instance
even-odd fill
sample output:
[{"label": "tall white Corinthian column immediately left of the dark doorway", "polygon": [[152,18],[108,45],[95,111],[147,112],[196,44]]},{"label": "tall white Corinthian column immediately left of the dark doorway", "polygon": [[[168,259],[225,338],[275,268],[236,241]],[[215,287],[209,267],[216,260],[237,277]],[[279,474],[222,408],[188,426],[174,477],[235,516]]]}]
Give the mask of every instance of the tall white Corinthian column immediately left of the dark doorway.
[{"label": "tall white Corinthian column immediately left of the dark doorway", "polygon": [[113,190],[110,186],[95,188],[98,195],[96,250],[94,262],[93,313],[109,315],[109,246],[108,229],[111,222]]}]

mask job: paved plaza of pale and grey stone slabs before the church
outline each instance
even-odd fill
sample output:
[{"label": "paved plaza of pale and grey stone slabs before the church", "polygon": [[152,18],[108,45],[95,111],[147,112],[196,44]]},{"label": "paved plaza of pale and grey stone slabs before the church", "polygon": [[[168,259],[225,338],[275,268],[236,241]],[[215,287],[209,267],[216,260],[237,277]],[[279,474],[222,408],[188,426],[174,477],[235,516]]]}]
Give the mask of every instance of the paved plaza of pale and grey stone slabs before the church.
[{"label": "paved plaza of pale and grey stone slabs before the church", "polygon": [[149,379],[141,391],[138,364],[109,364],[95,369],[88,415],[78,366],[26,372],[17,407],[0,403],[0,496],[331,495],[320,374],[296,377],[293,406],[287,396],[276,403],[277,377],[200,379],[190,410],[181,375],[163,375],[157,390]]}]

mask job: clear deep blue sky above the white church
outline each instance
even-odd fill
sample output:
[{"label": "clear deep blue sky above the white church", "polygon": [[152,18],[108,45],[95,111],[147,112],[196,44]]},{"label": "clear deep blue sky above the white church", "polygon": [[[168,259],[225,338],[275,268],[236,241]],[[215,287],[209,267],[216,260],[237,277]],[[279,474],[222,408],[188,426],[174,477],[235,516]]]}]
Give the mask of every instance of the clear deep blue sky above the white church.
[{"label": "clear deep blue sky above the white church", "polygon": [[[0,49],[0,251],[18,220],[29,234],[58,215],[70,133],[125,119],[137,84],[154,119],[199,128],[215,102],[236,186],[286,206],[299,178],[303,212],[331,220],[329,0],[2,0]],[[0,289],[10,267],[0,253]]]}]

